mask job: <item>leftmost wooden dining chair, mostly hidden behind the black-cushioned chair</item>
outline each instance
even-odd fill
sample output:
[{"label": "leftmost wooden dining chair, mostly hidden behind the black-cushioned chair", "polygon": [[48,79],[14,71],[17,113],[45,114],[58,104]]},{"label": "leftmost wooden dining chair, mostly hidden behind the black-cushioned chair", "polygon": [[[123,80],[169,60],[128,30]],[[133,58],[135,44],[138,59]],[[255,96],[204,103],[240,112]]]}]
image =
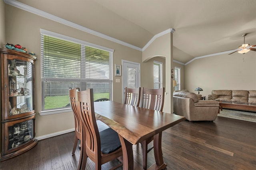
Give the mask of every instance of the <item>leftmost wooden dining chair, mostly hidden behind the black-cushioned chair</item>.
[{"label": "leftmost wooden dining chair, mostly hidden behind the black-cushioned chair", "polygon": [[[74,114],[74,119],[75,119],[75,139],[74,139],[74,146],[72,150],[72,155],[74,155],[76,151],[76,146],[78,143],[78,140],[80,142],[83,142],[83,136],[82,136],[82,123],[81,123],[81,118],[78,115],[78,105],[77,105],[77,100],[76,100],[76,92],[79,91],[79,88],[74,88],[69,90],[69,98],[70,98],[70,105]],[[81,144],[80,144],[80,150],[82,150]],[[82,152],[80,151],[80,159],[79,159],[79,164],[78,167],[82,166],[83,162],[83,157],[82,157]],[[84,158],[85,159],[85,158]],[[86,157],[87,159],[87,157]]]}]

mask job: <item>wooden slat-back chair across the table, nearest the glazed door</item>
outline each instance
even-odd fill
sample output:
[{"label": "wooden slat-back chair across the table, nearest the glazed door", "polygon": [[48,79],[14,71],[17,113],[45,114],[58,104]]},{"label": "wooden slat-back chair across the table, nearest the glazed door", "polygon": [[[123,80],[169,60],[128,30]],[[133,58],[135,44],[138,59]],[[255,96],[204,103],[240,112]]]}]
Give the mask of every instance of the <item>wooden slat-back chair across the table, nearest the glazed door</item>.
[{"label": "wooden slat-back chair across the table, nearest the glazed door", "polygon": [[140,105],[141,88],[125,88],[124,104],[139,106]]}]

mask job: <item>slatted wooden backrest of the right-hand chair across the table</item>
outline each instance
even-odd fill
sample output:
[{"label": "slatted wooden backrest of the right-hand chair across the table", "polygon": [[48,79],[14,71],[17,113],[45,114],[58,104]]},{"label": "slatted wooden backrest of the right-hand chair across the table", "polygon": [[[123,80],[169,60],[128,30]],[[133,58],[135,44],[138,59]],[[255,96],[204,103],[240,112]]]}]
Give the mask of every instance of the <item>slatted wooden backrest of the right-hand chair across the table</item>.
[{"label": "slatted wooden backrest of the right-hand chair across the table", "polygon": [[164,88],[149,89],[142,88],[142,107],[163,111],[164,107]]}]

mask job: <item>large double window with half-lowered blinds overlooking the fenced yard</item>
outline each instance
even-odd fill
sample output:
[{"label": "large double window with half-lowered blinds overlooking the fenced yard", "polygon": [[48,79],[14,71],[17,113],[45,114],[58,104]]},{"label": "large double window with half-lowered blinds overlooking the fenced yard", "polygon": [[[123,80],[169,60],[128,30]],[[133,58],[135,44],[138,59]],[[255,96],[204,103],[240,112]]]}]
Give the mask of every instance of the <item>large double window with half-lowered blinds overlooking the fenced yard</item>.
[{"label": "large double window with half-lowered blinds overlooking the fenced yard", "polygon": [[111,100],[111,49],[101,49],[84,41],[42,32],[44,31],[41,31],[42,113],[68,110],[69,88],[93,88],[94,100]]}]

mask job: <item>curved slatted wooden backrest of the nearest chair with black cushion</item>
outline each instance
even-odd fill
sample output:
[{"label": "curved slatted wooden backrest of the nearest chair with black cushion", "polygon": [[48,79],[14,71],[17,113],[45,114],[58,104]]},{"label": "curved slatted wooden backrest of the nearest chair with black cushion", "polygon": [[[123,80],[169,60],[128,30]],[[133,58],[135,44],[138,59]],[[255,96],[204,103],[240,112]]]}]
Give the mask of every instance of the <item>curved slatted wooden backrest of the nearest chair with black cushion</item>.
[{"label": "curved slatted wooden backrest of the nearest chair with black cushion", "polygon": [[82,118],[82,127],[86,130],[86,150],[95,154],[95,159],[101,155],[100,134],[96,123],[93,103],[93,90],[77,92],[78,113]]}]

